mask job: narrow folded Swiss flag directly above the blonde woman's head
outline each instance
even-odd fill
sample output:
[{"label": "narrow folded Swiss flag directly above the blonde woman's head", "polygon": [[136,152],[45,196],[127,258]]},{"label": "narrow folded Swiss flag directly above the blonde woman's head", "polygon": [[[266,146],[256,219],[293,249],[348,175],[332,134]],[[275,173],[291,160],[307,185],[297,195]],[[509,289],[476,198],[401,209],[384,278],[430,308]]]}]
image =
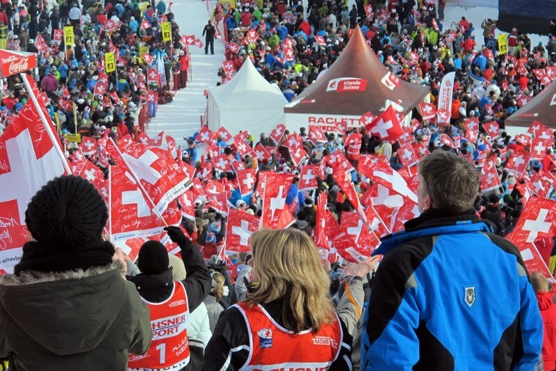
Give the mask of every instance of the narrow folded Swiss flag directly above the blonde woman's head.
[{"label": "narrow folded Swiss flag directly above the blonde woman's head", "polygon": [[264,183],[263,211],[261,226],[270,229],[286,228],[295,222],[286,205],[288,190],[293,181],[293,174],[277,174],[275,172],[262,172],[259,180]]}]

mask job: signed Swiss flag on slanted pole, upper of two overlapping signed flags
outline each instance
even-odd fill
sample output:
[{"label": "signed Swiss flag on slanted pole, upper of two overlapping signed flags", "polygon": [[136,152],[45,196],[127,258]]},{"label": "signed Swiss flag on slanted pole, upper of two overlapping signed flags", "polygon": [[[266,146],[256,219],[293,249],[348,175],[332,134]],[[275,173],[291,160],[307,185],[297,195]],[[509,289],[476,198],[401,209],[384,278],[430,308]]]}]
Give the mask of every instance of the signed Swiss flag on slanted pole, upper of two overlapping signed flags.
[{"label": "signed Swiss flag on slanted pole, upper of two overlapping signed flags", "polygon": [[107,149],[118,164],[129,166],[159,213],[190,186],[188,176],[165,149],[135,142],[122,143],[117,149],[113,140],[108,142]]}]

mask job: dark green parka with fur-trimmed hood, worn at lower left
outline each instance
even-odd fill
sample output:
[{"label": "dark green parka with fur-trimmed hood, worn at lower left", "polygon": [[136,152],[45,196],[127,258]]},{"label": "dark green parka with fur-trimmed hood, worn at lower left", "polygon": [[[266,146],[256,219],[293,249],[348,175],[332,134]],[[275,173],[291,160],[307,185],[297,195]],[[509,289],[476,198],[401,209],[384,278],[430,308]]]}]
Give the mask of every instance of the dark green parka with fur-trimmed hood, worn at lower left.
[{"label": "dark green parka with fur-trimmed hood, worn at lower left", "polygon": [[0,358],[10,371],[124,371],[151,338],[149,309],[115,264],[0,276]]}]

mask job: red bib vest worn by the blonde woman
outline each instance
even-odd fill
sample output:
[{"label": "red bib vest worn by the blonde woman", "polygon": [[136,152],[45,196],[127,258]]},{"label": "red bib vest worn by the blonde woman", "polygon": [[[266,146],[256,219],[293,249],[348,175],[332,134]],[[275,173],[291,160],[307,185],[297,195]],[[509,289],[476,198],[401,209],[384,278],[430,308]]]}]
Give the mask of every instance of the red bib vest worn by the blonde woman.
[{"label": "red bib vest worn by the blonde woman", "polygon": [[250,338],[249,357],[241,370],[325,371],[340,354],[343,332],[338,315],[331,324],[293,333],[281,327],[261,305],[235,304]]}]

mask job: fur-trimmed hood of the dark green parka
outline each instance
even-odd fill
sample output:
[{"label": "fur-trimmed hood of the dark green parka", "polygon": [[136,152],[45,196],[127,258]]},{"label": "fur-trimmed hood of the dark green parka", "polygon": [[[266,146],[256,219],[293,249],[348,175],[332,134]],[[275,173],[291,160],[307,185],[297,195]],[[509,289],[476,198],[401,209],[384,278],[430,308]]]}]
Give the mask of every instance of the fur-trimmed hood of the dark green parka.
[{"label": "fur-trimmed hood of the dark green parka", "polygon": [[[54,354],[95,349],[117,326],[128,290],[122,263],[0,276],[0,316]],[[16,332],[17,333],[17,332]]]}]

